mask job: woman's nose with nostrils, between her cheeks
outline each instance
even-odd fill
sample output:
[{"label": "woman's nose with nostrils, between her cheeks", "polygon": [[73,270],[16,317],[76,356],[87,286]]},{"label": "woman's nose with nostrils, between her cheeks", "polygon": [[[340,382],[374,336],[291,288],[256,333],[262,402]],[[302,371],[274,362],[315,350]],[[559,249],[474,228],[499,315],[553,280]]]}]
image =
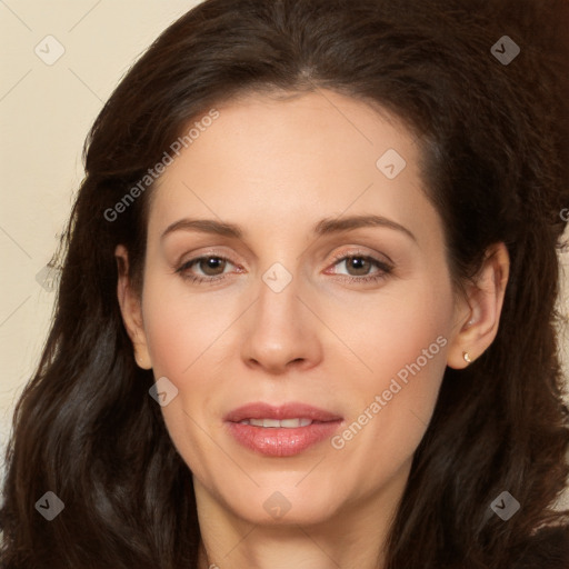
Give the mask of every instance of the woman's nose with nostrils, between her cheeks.
[{"label": "woman's nose with nostrils, between her cheeks", "polygon": [[246,366],[271,375],[308,370],[322,359],[320,322],[299,298],[299,282],[281,291],[260,283],[259,298],[244,322],[241,357]]}]

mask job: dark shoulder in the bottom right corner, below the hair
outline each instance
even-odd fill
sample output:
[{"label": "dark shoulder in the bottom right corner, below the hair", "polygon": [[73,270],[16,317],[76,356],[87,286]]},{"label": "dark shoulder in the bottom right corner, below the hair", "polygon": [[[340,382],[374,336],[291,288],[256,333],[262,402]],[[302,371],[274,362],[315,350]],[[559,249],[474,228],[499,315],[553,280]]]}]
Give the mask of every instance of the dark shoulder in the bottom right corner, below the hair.
[{"label": "dark shoulder in the bottom right corner, below the hair", "polygon": [[569,568],[569,526],[545,528],[518,552],[511,569]]}]

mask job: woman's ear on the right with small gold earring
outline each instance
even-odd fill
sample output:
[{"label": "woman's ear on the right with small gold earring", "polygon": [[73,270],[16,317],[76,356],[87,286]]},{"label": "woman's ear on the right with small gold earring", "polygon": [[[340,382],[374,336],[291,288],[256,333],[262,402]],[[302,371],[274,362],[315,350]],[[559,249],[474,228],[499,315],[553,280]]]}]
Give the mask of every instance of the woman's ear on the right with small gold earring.
[{"label": "woman's ear on the right with small gold earring", "polygon": [[457,305],[455,329],[458,332],[447,352],[449,367],[466,368],[470,363],[468,359],[475,361],[492,343],[498,333],[509,271],[506,244],[491,246],[475,282],[468,284],[466,298]]}]

